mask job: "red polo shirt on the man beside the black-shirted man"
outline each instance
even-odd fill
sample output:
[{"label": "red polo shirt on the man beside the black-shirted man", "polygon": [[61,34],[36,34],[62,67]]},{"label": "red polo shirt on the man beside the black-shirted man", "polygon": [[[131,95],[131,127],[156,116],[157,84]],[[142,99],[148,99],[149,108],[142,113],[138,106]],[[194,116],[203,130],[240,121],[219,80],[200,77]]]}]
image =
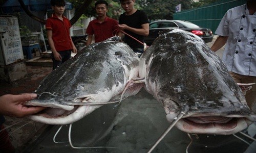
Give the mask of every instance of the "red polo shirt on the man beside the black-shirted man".
[{"label": "red polo shirt on the man beside the black-shirted man", "polygon": [[88,35],[94,34],[95,42],[100,42],[115,36],[117,29],[117,20],[106,16],[105,20],[102,23],[99,23],[97,19],[90,21],[86,33]]}]

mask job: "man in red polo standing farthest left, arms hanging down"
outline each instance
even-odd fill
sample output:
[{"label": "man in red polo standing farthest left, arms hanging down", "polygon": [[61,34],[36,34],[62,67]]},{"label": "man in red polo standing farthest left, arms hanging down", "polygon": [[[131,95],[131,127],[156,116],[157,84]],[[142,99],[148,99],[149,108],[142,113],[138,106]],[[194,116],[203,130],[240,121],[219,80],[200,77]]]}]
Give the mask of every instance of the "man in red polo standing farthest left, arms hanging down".
[{"label": "man in red polo standing farthest left, arms hanging down", "polygon": [[47,38],[52,49],[53,69],[70,59],[71,50],[73,53],[77,52],[69,34],[72,25],[69,19],[63,16],[65,5],[64,0],[51,0],[54,13],[46,20]]}]

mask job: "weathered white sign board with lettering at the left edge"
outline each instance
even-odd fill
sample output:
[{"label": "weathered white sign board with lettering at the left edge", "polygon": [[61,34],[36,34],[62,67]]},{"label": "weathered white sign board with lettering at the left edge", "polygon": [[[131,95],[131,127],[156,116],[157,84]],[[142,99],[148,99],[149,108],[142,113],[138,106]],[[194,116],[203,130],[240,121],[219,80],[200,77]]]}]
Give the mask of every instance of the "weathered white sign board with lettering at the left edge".
[{"label": "weathered white sign board with lettering at the left edge", "polygon": [[0,16],[0,43],[5,65],[24,59],[17,17]]}]

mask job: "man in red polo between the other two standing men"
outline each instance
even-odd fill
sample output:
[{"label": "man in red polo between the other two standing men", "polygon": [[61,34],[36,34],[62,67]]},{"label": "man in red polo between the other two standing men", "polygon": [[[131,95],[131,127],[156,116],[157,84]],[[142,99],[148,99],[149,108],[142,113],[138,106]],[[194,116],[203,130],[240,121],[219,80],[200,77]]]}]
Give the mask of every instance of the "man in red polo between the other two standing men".
[{"label": "man in red polo between the other two standing men", "polygon": [[95,3],[98,17],[97,19],[92,20],[87,27],[86,33],[88,34],[88,39],[86,45],[92,43],[93,35],[95,42],[100,42],[115,36],[118,29],[118,22],[117,20],[106,16],[108,6],[106,1],[97,1]]}]

